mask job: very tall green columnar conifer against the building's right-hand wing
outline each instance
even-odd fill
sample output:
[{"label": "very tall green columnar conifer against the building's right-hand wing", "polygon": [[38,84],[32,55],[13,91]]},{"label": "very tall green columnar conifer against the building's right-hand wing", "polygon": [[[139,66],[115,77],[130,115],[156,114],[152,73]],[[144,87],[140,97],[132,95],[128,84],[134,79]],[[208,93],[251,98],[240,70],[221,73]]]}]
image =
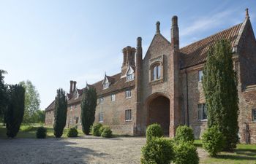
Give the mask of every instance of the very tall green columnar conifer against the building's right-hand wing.
[{"label": "very tall green columnar conifer against the building's right-hand wing", "polygon": [[238,142],[238,90],[229,42],[220,40],[208,50],[203,74],[208,128],[217,125],[225,150],[232,150]]}]

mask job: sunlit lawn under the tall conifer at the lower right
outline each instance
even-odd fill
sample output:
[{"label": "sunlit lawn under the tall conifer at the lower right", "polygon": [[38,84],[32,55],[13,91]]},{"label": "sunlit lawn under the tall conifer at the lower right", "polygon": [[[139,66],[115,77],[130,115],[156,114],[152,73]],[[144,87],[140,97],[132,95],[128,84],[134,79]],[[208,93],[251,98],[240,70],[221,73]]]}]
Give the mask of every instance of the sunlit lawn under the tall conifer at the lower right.
[{"label": "sunlit lawn under the tall conifer at the lower right", "polygon": [[[202,147],[202,141],[195,140],[196,147]],[[234,152],[221,152],[217,157],[200,159],[200,163],[214,164],[256,164],[256,144],[238,144]]]}]

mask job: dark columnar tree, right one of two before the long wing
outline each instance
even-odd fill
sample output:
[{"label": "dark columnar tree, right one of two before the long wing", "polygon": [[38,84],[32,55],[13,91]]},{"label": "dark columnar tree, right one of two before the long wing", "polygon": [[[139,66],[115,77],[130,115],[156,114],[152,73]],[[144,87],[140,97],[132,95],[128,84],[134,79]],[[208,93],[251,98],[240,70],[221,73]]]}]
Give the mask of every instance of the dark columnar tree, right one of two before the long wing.
[{"label": "dark columnar tree, right one of two before the long wing", "polygon": [[94,87],[86,87],[83,90],[83,100],[81,103],[81,120],[83,133],[89,135],[90,126],[95,120],[95,110],[97,106],[97,93]]}]

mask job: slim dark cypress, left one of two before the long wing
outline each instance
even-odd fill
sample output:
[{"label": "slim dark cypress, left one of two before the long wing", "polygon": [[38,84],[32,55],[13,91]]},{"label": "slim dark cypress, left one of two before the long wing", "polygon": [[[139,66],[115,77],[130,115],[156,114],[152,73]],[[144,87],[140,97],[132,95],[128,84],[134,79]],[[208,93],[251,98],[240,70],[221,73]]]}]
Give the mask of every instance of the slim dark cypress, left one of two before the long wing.
[{"label": "slim dark cypress, left one of two before the long wing", "polygon": [[55,98],[55,110],[54,110],[54,136],[59,138],[63,134],[64,127],[67,120],[67,98],[65,96],[64,90],[60,88],[57,90],[57,95]]}]

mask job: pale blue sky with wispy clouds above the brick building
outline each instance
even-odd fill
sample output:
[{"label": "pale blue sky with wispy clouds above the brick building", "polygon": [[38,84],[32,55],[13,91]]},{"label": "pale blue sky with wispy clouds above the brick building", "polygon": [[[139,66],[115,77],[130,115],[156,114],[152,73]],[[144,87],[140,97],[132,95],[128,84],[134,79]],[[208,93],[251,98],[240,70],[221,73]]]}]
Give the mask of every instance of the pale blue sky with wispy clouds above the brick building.
[{"label": "pale blue sky with wispy clouds above the brick building", "polygon": [[184,47],[242,23],[246,8],[256,31],[255,0],[0,0],[0,69],[7,84],[29,79],[45,109],[70,80],[82,88],[119,73],[121,50],[138,36],[145,55],[157,21],[170,40],[177,15]]}]

